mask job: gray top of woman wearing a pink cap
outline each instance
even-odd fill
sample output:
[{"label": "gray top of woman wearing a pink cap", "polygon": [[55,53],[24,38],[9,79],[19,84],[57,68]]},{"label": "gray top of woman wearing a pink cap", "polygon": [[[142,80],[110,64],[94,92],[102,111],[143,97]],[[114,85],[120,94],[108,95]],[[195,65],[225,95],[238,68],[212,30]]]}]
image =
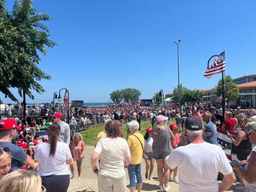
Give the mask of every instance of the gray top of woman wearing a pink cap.
[{"label": "gray top of woman wearing a pink cap", "polygon": [[171,134],[169,128],[166,125],[164,126],[164,130],[162,132],[158,132],[157,134],[154,134],[153,128],[152,138],[153,154],[165,155],[170,154],[172,152]]}]

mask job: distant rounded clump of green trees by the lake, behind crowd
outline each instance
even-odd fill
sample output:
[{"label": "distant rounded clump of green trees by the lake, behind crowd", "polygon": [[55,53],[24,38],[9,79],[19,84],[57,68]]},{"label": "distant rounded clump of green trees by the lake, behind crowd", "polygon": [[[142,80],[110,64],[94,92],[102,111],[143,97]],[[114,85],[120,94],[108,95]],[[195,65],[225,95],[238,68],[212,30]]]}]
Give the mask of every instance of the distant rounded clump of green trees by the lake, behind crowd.
[{"label": "distant rounded clump of green trees by the lake, behind crowd", "polygon": [[120,103],[122,99],[125,99],[125,102],[138,102],[140,99],[141,92],[138,89],[126,88],[121,90],[115,90],[109,94],[110,99],[115,103]]}]

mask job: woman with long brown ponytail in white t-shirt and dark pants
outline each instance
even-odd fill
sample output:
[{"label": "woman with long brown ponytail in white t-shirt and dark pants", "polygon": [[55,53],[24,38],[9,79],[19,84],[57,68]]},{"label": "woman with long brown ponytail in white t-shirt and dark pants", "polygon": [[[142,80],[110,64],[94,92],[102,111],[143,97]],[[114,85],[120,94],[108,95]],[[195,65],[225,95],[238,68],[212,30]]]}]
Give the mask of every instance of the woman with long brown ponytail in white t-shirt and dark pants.
[{"label": "woman with long brown ponytail in white t-shirt and dark pants", "polygon": [[38,145],[35,160],[38,161],[38,174],[47,192],[67,192],[70,183],[68,164],[74,164],[69,146],[59,142],[60,125],[52,124],[47,129],[48,143]]}]

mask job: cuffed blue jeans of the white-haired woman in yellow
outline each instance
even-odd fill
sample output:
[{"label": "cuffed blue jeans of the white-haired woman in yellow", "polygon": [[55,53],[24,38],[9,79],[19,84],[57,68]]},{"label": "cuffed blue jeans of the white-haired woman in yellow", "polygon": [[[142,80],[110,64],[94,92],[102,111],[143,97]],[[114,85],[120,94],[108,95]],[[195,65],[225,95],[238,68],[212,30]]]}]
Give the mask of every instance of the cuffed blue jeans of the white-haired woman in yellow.
[{"label": "cuffed blue jeans of the white-haired woman in yellow", "polygon": [[141,176],[141,164],[130,164],[128,165],[128,175],[130,179],[130,187],[135,187],[135,175],[137,178],[137,183],[143,183],[142,176]]}]

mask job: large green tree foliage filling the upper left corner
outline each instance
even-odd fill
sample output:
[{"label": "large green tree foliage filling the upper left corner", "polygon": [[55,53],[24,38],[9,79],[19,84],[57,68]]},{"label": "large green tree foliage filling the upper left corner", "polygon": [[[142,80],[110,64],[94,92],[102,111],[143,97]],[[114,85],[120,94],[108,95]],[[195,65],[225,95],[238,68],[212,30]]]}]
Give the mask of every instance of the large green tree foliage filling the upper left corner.
[{"label": "large green tree foliage filling the upper left corner", "polygon": [[22,96],[25,91],[31,99],[31,90],[45,92],[38,83],[41,79],[51,79],[37,64],[41,61],[38,51],[46,55],[45,46],[56,44],[48,39],[49,30],[41,21],[51,19],[47,14],[38,13],[32,7],[32,0],[15,0],[11,13],[0,0],[0,91],[13,101],[16,97],[10,88],[17,88]]}]

